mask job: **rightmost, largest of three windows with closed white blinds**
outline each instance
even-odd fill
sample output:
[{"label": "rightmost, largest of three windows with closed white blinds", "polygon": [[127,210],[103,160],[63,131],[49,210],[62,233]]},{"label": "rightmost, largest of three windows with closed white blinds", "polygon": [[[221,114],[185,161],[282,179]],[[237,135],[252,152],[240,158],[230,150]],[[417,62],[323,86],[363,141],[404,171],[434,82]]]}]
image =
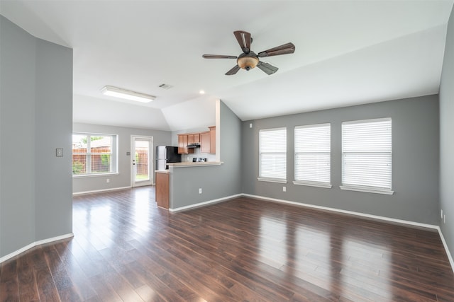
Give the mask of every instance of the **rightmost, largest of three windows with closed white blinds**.
[{"label": "rightmost, largest of three windows with closed white blinds", "polygon": [[343,190],[392,194],[391,118],[342,123]]}]

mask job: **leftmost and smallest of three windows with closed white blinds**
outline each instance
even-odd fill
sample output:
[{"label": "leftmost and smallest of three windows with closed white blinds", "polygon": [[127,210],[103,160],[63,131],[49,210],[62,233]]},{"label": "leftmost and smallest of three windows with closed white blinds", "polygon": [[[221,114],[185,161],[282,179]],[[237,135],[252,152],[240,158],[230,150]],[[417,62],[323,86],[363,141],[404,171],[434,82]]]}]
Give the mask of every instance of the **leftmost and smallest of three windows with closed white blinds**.
[{"label": "leftmost and smallest of three windows with closed white blinds", "polygon": [[258,180],[287,182],[287,128],[259,132]]}]

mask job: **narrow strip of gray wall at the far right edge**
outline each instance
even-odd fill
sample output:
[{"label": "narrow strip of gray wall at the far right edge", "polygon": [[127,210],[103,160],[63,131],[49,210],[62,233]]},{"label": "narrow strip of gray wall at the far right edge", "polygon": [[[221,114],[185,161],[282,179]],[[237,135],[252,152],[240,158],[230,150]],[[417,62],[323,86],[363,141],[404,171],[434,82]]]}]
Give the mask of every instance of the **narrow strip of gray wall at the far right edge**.
[{"label": "narrow strip of gray wall at the far right edge", "polygon": [[446,215],[441,231],[454,257],[454,12],[448,22],[440,85],[440,206]]}]

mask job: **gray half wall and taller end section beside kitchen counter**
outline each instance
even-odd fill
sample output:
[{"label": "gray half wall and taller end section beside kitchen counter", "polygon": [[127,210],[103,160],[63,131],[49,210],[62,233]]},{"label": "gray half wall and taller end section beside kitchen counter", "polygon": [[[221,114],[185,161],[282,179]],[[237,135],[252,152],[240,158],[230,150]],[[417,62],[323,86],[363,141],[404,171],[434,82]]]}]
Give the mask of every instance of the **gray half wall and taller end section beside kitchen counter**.
[{"label": "gray half wall and taller end section beside kitchen counter", "polygon": [[[219,124],[223,165],[173,168],[171,209],[241,193],[241,121],[223,102]],[[199,188],[202,194],[199,194]]]}]

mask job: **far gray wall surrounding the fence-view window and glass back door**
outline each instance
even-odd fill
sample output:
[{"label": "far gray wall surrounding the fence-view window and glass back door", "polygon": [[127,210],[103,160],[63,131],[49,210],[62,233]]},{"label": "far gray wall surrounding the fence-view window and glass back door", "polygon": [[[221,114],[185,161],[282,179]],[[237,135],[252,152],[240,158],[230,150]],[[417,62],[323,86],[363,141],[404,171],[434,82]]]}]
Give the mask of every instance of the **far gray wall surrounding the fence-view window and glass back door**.
[{"label": "far gray wall surrounding the fence-view window and glass back door", "polygon": [[[131,186],[131,156],[126,155],[126,152],[131,151],[131,135],[153,137],[153,165],[155,165],[156,158],[155,146],[171,146],[172,144],[172,132],[168,131],[82,123],[74,123],[73,131],[118,135],[118,175],[99,175],[73,178],[72,190],[74,193],[109,190],[118,187]],[[106,178],[109,178],[109,183],[106,182]]]}]

